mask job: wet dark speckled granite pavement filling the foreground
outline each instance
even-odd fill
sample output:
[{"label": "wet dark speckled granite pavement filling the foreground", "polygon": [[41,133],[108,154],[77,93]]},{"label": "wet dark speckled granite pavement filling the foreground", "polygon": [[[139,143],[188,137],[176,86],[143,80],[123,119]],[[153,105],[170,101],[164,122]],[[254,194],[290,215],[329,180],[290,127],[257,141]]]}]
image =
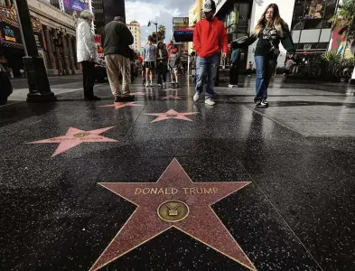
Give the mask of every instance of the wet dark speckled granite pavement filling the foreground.
[{"label": "wet dark speckled granite pavement filling the foreground", "polygon": [[[276,80],[270,107],[256,109],[253,79],[242,82],[216,89],[215,107],[193,103],[187,80],[175,90],[136,83],[132,92],[144,94],[135,107],[102,107],[113,104],[107,84],[98,102],[72,91],[52,104],[0,107],[0,270],[355,270],[355,98]],[[161,99],[169,95],[182,99]],[[153,122],[154,113],[167,119]],[[70,127],[83,132],[69,136]],[[85,131],[107,127],[88,142]],[[174,158],[184,173],[168,170]],[[202,208],[198,190],[174,194],[186,176],[217,201]],[[144,190],[162,179],[161,193]],[[248,185],[213,190],[229,182]],[[190,212],[144,238],[168,223],[158,196]],[[145,222],[143,207],[154,213]]]}]

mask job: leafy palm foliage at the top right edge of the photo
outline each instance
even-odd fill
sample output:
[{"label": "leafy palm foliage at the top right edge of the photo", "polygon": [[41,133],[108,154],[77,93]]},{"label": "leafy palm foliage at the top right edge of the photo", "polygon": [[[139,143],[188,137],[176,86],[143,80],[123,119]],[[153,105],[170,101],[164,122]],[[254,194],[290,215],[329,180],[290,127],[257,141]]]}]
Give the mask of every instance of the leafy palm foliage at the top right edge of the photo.
[{"label": "leafy palm foliage at the top right edge of the photo", "polygon": [[[355,39],[355,1],[343,0],[339,5],[339,11],[329,20],[332,24],[332,30],[338,30],[346,42]],[[346,43],[347,44],[347,43]],[[345,48],[343,50],[343,56]]]}]

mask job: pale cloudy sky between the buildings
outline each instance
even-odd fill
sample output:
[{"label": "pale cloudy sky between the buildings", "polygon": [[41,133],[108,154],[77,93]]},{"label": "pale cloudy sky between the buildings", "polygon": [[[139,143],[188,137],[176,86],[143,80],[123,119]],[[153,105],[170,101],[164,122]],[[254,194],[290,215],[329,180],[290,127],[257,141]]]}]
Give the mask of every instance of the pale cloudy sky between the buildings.
[{"label": "pale cloudy sky between the buildings", "polygon": [[126,23],[135,19],[142,27],[142,42],[155,32],[155,25],[147,26],[149,20],[163,24],[166,27],[165,43],[173,37],[173,17],[188,17],[189,7],[194,0],[139,0],[126,1]]}]

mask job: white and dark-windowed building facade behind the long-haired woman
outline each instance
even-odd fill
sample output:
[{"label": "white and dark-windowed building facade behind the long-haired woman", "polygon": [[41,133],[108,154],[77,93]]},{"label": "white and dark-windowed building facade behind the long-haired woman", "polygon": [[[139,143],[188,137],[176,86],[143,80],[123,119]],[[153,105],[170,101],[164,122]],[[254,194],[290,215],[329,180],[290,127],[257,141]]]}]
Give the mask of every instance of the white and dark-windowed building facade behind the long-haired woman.
[{"label": "white and dark-windowed building facade behind the long-haired woman", "polygon": [[[332,25],[328,20],[336,13],[339,0],[216,0],[216,15],[224,21],[229,42],[248,36],[269,4],[279,6],[281,17],[290,27],[295,49],[304,59],[313,58],[330,47]],[[241,61],[247,67],[254,62],[257,42],[242,54]],[[280,46],[281,54],[277,65],[284,66],[286,52]]]}]

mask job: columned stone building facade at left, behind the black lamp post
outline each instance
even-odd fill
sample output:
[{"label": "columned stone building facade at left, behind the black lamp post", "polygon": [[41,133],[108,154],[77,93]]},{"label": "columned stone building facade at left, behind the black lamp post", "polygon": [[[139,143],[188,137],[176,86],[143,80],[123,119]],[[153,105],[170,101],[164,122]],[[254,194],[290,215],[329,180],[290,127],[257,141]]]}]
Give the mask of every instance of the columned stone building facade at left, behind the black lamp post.
[{"label": "columned stone building facade at left, behind the black lamp post", "polygon": [[[69,14],[45,0],[27,0],[33,22],[33,32],[39,54],[42,56],[49,75],[80,73],[76,61],[76,33],[74,20]],[[11,30],[11,41],[2,41],[0,46],[8,66],[23,70],[23,43],[17,15],[12,1],[2,1],[0,6],[1,27]],[[5,4],[5,5],[4,5]],[[1,33],[4,30],[1,29]],[[6,37],[5,37],[6,38]]]}]

